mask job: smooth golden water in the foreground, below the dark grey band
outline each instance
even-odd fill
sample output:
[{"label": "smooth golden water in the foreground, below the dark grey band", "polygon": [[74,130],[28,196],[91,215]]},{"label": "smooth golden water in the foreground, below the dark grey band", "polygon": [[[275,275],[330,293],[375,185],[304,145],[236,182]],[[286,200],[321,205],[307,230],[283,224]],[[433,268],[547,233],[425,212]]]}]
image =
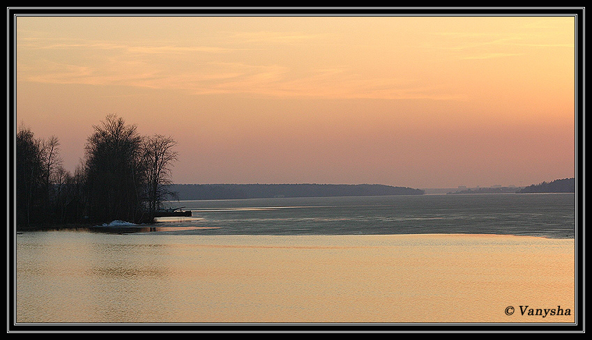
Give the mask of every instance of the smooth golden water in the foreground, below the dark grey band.
[{"label": "smooth golden water in the foreground, below the dark grey band", "polygon": [[[18,238],[18,322],[575,320],[574,240],[49,234]],[[571,315],[522,315],[519,306]]]}]

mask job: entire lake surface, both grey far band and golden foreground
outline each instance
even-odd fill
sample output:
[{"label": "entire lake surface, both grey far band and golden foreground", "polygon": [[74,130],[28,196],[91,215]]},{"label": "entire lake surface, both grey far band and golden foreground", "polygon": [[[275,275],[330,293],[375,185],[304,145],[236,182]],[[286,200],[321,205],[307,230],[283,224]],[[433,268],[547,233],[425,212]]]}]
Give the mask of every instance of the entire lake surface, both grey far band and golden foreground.
[{"label": "entire lake surface, both grey far band and golden foreground", "polygon": [[17,323],[575,320],[573,194],[171,205],[193,216],[18,233]]}]

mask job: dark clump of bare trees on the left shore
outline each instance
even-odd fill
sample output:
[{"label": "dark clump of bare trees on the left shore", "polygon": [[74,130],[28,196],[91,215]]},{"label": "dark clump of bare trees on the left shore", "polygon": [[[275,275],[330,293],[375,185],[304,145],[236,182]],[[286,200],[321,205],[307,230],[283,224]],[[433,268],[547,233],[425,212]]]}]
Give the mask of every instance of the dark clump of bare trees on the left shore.
[{"label": "dark clump of bare trees on the left shore", "polygon": [[15,222],[18,228],[56,224],[152,222],[174,192],[172,137],[145,137],[135,125],[108,115],[88,137],[73,173],[63,168],[59,139],[36,139],[21,127],[15,141]]}]

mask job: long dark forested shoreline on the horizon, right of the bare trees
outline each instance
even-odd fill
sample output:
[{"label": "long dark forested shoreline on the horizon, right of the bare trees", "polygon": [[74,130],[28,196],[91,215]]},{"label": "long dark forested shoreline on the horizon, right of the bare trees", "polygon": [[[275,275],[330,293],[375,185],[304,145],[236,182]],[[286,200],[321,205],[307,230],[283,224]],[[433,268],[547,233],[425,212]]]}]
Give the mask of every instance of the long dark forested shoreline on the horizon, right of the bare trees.
[{"label": "long dark forested shoreline on the horizon, right of the bare trees", "polygon": [[369,184],[174,184],[169,190],[175,192],[180,201],[425,194],[423,190],[410,187]]}]

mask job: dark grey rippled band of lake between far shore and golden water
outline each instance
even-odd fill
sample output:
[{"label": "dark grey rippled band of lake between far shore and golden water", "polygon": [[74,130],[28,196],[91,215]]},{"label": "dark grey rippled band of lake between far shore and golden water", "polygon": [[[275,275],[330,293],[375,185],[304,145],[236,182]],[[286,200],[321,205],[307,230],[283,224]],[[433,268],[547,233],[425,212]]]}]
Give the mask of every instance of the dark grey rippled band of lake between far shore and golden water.
[{"label": "dark grey rippled band of lake between far shore and golden water", "polygon": [[574,194],[172,202],[178,205],[192,210],[193,217],[160,219],[155,226],[204,235],[491,233],[549,238],[573,238],[575,229]]}]

